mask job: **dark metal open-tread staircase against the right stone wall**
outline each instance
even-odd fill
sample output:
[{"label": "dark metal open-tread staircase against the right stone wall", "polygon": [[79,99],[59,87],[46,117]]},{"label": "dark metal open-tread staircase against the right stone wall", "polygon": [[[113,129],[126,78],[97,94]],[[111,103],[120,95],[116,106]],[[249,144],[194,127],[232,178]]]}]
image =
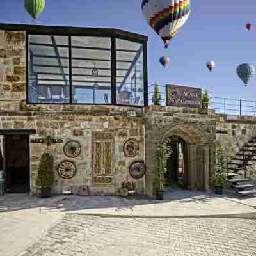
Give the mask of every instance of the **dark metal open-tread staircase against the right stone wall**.
[{"label": "dark metal open-tread staircase against the right stone wall", "polygon": [[247,179],[247,166],[256,164],[256,137],[246,143],[227,163],[227,184],[234,189],[237,194],[243,196],[256,196],[256,188],[253,181]]}]

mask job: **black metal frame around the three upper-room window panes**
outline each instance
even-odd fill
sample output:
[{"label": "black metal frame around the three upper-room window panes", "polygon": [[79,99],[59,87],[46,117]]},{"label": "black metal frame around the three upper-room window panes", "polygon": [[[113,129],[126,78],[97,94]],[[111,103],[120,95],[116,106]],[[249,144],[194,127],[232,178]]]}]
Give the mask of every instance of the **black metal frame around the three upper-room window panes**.
[{"label": "black metal frame around the three upper-room window panes", "polygon": [[[143,108],[148,106],[148,73],[147,73],[147,36],[142,36],[130,32],[121,31],[119,29],[96,29],[96,28],[66,28],[47,26],[31,26],[33,29],[26,29],[26,103],[31,105],[116,105],[129,106],[134,108]],[[35,27],[38,28],[36,31]],[[42,29],[44,27],[44,29]],[[1,24],[0,24],[1,29]],[[19,28],[17,28],[19,29]],[[29,35],[53,35],[53,36],[68,36],[68,51],[69,51],[69,102],[63,103],[36,103],[29,102]],[[109,103],[72,103],[72,36],[86,37],[102,37],[110,39],[111,46],[111,102]],[[116,100],[116,39],[128,40],[143,44],[143,97],[144,104],[141,106],[132,104],[117,104]]]}]

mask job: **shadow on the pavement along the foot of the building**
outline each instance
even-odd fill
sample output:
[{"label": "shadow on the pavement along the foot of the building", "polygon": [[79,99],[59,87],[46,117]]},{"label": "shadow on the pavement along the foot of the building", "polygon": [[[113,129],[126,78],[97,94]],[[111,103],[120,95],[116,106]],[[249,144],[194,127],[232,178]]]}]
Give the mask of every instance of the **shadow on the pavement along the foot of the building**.
[{"label": "shadow on the pavement along the foot of the building", "polygon": [[[216,198],[225,198],[233,202],[256,207],[256,199],[248,204],[248,197],[237,197],[235,195],[215,195],[204,191],[189,191],[182,189],[166,189],[164,200],[159,201],[148,196],[133,195],[127,198],[119,196],[77,196],[56,195],[51,198],[40,198],[28,194],[6,194],[0,196],[0,212],[19,211],[24,209],[36,209],[40,211],[79,211],[84,209],[114,208],[115,212],[129,209],[133,211],[136,205],[164,204],[176,202],[180,205],[187,203],[207,204]],[[252,205],[254,204],[254,205]]]}]

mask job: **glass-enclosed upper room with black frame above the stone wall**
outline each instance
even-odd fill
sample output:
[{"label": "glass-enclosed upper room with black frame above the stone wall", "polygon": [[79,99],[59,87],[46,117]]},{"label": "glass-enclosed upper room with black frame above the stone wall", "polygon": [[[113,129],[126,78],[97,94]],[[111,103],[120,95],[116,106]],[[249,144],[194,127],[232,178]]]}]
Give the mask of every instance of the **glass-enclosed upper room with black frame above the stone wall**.
[{"label": "glass-enclosed upper room with black frame above the stone wall", "polygon": [[27,40],[28,104],[147,106],[147,36],[119,29],[20,27]]}]

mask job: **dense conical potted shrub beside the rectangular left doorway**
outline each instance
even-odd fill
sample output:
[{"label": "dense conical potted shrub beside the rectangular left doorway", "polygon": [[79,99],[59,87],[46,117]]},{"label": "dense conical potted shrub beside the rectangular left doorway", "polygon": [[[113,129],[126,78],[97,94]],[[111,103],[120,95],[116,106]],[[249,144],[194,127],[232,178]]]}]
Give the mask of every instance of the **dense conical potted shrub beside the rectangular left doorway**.
[{"label": "dense conical potted shrub beside the rectangular left doorway", "polygon": [[38,168],[38,175],[36,177],[36,186],[41,187],[42,198],[47,198],[51,196],[53,182],[53,156],[49,153],[44,153],[41,156],[40,165]]}]

